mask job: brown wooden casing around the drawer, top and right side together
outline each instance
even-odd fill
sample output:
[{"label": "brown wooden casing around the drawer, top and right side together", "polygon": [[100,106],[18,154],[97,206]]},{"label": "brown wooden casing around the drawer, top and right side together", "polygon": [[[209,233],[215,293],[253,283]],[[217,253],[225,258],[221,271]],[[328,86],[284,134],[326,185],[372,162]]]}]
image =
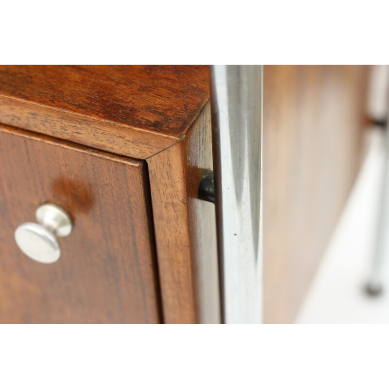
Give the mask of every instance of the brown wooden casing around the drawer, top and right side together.
[{"label": "brown wooden casing around the drawer, top and right side together", "polygon": [[213,205],[196,198],[212,167],[208,100],[207,66],[0,66],[0,122],[147,160],[166,322],[219,320],[217,280],[204,283],[217,271]]}]

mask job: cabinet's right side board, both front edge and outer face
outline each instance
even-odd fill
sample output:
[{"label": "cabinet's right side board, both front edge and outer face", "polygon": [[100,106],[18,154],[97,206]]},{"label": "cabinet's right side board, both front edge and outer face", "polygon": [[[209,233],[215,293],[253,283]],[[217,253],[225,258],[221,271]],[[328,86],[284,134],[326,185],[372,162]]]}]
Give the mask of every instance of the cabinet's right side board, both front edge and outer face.
[{"label": "cabinet's right side board, both front edge and outer face", "polygon": [[185,141],[147,163],[165,320],[219,322],[215,210],[197,193],[202,174],[212,169],[210,104]]}]

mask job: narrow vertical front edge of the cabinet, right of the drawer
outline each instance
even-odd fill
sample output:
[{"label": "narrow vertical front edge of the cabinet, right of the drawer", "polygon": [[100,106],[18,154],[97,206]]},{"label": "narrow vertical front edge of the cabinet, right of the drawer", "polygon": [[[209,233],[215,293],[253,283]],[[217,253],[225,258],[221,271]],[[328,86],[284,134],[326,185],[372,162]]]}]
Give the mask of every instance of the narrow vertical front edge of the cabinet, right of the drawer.
[{"label": "narrow vertical front edge of the cabinet, right of the drawer", "polygon": [[183,142],[147,160],[166,323],[196,323]]}]

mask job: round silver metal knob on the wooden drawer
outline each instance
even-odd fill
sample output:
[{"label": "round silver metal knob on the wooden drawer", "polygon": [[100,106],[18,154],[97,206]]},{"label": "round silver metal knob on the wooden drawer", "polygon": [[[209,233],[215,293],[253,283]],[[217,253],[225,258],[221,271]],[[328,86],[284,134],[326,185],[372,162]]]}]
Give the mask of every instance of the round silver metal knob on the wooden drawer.
[{"label": "round silver metal knob on the wooden drawer", "polygon": [[68,212],[55,204],[43,204],[35,212],[37,223],[23,223],[15,231],[15,240],[24,254],[43,264],[52,264],[61,256],[58,237],[68,236],[73,222]]}]

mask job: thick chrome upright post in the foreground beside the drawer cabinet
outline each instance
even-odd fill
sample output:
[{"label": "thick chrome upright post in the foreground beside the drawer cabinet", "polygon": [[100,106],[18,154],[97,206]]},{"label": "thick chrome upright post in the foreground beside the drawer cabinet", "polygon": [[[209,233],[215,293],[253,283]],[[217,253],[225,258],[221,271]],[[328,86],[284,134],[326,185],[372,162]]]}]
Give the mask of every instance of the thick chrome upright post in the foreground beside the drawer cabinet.
[{"label": "thick chrome upright post in the foreground beside the drawer cabinet", "polygon": [[262,322],[262,65],[211,67],[222,316]]}]

